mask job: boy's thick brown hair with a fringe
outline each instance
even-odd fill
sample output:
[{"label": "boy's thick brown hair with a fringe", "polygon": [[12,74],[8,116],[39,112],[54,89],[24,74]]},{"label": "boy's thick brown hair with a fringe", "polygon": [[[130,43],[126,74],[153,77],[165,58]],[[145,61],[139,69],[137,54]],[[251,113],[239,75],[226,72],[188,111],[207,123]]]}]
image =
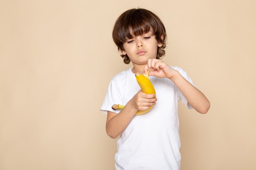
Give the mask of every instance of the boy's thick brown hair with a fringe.
[{"label": "boy's thick brown hair with a fringe", "polygon": [[[166,31],[162,21],[153,12],[147,9],[129,9],[122,13],[117,21],[115,22],[112,38],[117,45],[118,50],[124,51],[124,42],[127,39],[132,38],[130,31],[135,36],[148,33],[150,28],[155,35],[157,42],[162,44],[161,47],[157,48],[157,59],[164,56],[166,47]],[[125,64],[130,63],[128,55],[121,55],[124,59]]]}]

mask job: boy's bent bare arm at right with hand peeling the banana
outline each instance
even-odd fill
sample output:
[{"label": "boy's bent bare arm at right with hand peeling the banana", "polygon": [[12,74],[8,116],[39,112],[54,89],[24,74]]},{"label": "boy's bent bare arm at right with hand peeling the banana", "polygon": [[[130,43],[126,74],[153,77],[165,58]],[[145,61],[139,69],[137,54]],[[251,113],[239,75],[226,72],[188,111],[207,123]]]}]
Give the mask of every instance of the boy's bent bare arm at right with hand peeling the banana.
[{"label": "boy's bent bare arm at right with hand peeling the banana", "polygon": [[144,68],[144,72],[148,68],[153,69],[149,72],[149,75],[153,75],[160,78],[168,78],[180,89],[188,103],[199,113],[205,114],[210,108],[209,100],[204,94],[199,91],[195,86],[189,83],[182,75],[168,66],[166,63],[157,59],[149,59],[147,65]]}]

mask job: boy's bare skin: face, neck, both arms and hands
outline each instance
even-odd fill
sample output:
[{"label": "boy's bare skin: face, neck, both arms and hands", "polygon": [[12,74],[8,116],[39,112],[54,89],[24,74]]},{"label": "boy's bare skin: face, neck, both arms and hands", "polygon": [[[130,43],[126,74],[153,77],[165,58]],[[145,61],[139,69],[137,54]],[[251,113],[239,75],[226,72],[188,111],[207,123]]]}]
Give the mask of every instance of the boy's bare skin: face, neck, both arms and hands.
[{"label": "boy's bare skin: face, neck, both arms and hands", "polygon": [[[143,74],[150,70],[150,76],[171,79],[180,89],[188,103],[199,113],[205,114],[210,108],[209,100],[204,94],[190,84],[182,75],[168,64],[156,59],[157,46],[162,46],[155,39],[152,31],[134,36],[124,42],[123,55],[127,54],[133,64],[132,72]],[[142,52],[141,52],[142,51]],[[141,53],[139,53],[141,52]],[[117,138],[128,126],[138,110],[147,110],[156,104],[155,95],[136,93],[119,114],[108,111],[106,132],[111,138]]]}]

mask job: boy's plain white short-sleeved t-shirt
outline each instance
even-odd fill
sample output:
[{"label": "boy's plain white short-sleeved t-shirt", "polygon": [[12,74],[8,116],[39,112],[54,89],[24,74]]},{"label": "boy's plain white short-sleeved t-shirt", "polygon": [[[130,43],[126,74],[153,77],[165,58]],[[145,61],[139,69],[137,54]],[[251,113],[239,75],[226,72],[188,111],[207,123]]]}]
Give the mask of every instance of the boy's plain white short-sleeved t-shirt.
[{"label": "boy's plain white short-sleeved t-shirt", "polygon": [[[187,79],[192,80],[179,67],[171,66]],[[180,135],[178,100],[192,108],[184,95],[168,78],[149,77],[157,102],[144,115],[135,115],[117,141],[116,170],[180,170]],[[119,113],[113,104],[126,105],[140,90],[131,68],[110,81],[100,110]]]}]

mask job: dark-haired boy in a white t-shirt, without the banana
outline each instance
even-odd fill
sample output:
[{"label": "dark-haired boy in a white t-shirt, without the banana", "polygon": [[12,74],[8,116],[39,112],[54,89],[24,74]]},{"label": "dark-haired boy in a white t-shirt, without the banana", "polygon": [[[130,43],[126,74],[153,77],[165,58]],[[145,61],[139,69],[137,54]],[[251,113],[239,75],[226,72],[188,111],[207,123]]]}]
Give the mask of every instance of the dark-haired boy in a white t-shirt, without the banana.
[{"label": "dark-haired boy in a white t-shirt, without the banana", "polygon": [[[188,108],[205,114],[208,99],[193,86],[181,68],[159,60],[166,46],[166,31],[161,20],[146,9],[130,9],[117,19],[113,40],[128,64],[133,67],[112,78],[101,111],[107,113],[106,132],[117,141],[116,170],[179,170],[180,136],[178,100]],[[143,93],[135,73],[149,72],[155,95]],[[125,105],[112,110],[113,104]],[[136,115],[138,110],[148,113]]]}]

